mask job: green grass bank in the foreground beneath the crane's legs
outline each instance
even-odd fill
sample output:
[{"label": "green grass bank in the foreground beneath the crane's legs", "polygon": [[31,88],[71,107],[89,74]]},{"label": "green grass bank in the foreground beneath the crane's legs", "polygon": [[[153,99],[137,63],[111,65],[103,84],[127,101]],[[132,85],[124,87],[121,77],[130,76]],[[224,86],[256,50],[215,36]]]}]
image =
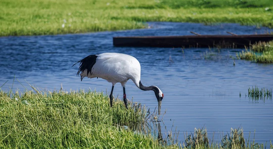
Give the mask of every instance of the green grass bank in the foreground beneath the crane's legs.
[{"label": "green grass bank in the foreground beneath the crane's legs", "polygon": [[[109,106],[102,93],[0,92],[0,148],[162,148],[151,134],[130,130],[144,121],[140,105]],[[129,126],[125,130],[123,125]]]}]

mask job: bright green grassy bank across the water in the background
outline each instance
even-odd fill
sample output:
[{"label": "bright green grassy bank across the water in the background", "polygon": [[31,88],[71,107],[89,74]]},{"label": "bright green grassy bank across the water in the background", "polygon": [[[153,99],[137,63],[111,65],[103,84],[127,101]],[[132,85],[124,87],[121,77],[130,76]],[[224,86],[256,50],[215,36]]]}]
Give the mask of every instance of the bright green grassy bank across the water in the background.
[{"label": "bright green grassy bank across the water in the background", "polygon": [[270,0],[2,0],[0,36],[136,29],[147,21],[273,27],[272,10]]}]

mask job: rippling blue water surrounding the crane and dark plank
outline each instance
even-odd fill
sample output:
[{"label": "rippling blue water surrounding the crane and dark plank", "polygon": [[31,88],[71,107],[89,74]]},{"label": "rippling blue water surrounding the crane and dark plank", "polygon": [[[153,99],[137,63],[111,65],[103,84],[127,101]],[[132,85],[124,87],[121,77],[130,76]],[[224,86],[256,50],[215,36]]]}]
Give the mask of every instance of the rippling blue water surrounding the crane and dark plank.
[{"label": "rippling blue water surrounding the crane and dark plank", "polygon": [[[200,48],[147,48],[113,47],[112,37],[143,35],[191,35],[199,34],[263,34],[272,32],[268,28],[238,24],[204,26],[195,23],[150,22],[150,29],[86,34],[20,36],[0,38],[0,85],[8,82],[2,90],[25,88],[15,80],[14,75],[28,89],[26,83],[40,89],[65,90],[91,89],[111,91],[111,83],[102,79],[76,76],[74,61],[90,54],[103,52],[125,53],[136,57],[141,64],[141,82],[156,85],[164,93],[161,111],[167,113],[161,124],[162,133],[177,126],[180,132],[193,132],[195,127],[205,126],[209,133],[230,132],[230,128],[243,127],[245,137],[256,130],[255,142],[273,140],[273,104],[270,99],[255,101],[245,97],[248,87],[273,88],[273,65],[251,63],[233,59],[242,49],[200,49]],[[207,51],[207,53],[206,53]],[[170,62],[170,56],[174,63]],[[26,80],[26,81],[25,81]],[[107,88],[107,89],[106,89]],[[239,97],[241,92],[242,97]],[[123,94],[120,84],[114,88],[115,97]],[[152,91],[142,91],[129,80],[126,85],[127,98],[146,104],[151,111],[157,106]],[[225,133],[226,134],[226,133]],[[183,141],[184,135],[180,133]]]}]

